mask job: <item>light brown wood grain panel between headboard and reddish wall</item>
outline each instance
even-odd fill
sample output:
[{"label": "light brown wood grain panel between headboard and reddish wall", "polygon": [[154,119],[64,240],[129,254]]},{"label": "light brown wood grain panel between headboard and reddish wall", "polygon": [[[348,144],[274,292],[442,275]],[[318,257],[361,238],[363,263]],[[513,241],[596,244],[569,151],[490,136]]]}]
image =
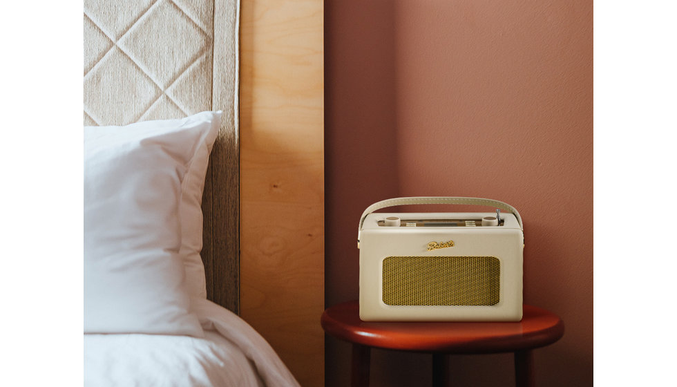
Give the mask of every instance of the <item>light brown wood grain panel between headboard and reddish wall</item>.
[{"label": "light brown wood grain panel between headboard and reddish wall", "polygon": [[241,12],[240,315],[323,386],[323,1]]}]

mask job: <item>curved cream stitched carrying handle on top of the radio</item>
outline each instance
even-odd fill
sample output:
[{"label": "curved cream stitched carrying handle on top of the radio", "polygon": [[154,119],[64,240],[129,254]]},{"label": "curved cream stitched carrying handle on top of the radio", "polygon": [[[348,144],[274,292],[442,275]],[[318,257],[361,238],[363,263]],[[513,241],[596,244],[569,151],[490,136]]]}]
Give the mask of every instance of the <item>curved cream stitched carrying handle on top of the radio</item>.
[{"label": "curved cream stitched carrying handle on top of the radio", "polygon": [[498,200],[493,199],[484,199],[484,198],[461,198],[457,196],[415,196],[410,198],[392,198],[381,200],[380,202],[375,202],[373,205],[367,207],[362,213],[362,218],[360,218],[360,226],[357,234],[357,245],[360,244],[360,232],[362,231],[362,226],[364,224],[365,218],[372,212],[382,209],[385,207],[393,207],[398,205],[483,205],[489,207],[497,207],[499,209],[504,209],[509,211],[511,214],[515,215],[517,218],[517,223],[519,223],[519,228],[524,231],[524,226],[522,225],[522,218],[519,216],[519,212],[515,207],[508,205],[508,203],[499,202]]}]

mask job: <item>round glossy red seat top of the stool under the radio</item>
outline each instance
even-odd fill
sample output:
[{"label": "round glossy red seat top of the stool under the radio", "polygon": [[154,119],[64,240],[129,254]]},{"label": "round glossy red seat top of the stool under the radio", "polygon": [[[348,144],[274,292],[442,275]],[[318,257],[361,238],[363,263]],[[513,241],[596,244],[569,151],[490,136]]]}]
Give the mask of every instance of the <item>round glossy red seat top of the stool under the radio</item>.
[{"label": "round glossy red seat top of the stool under the radio", "polygon": [[524,305],[519,322],[374,322],[361,321],[358,301],[327,308],[321,318],[328,334],[364,346],[445,353],[515,352],[547,346],[564,334],[560,317]]}]

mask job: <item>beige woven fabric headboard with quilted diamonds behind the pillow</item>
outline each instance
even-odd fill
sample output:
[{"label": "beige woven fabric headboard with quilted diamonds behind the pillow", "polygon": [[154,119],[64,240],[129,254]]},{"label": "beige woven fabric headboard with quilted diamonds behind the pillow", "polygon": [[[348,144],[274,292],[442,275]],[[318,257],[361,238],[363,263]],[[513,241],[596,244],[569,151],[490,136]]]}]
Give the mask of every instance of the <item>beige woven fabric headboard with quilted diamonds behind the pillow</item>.
[{"label": "beige woven fabric headboard with quilted diamonds behind the pillow", "polygon": [[84,124],[222,110],[202,198],[207,296],[239,312],[238,0],[85,0]]}]

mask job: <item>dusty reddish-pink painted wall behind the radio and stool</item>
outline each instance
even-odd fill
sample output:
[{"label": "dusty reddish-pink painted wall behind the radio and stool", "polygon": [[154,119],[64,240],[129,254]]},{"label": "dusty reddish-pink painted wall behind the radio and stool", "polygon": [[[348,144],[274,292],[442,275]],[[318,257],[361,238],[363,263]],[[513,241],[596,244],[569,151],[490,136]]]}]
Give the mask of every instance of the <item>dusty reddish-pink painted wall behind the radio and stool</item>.
[{"label": "dusty reddish-pink painted wall behind the radio and stool", "polygon": [[[542,386],[593,372],[592,1],[325,1],[326,303],[357,299],[356,228],[396,196],[515,206],[525,303],[564,319]],[[447,208],[448,209],[448,208]],[[509,355],[452,357],[455,386],[502,386]],[[350,346],[327,339],[327,386]],[[374,351],[373,386],[430,383],[428,355]],[[509,385],[509,384],[508,384]]]}]

